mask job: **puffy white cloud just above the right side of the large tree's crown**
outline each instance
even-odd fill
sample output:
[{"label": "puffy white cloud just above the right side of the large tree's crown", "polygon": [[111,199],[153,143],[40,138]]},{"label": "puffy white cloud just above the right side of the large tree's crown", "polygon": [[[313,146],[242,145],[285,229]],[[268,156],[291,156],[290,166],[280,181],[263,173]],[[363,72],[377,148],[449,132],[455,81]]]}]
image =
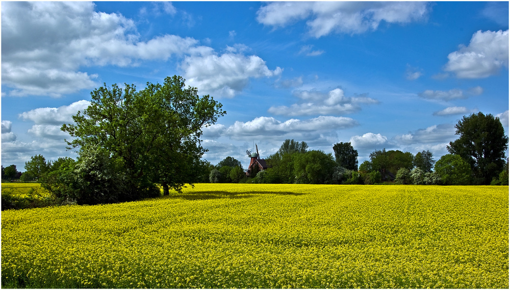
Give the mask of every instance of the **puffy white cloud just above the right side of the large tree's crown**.
[{"label": "puffy white cloud just above the right side of the large tree's crown", "polygon": [[282,74],[281,68],[270,70],[266,62],[256,55],[217,55],[211,51],[187,56],[181,68],[189,85],[199,88],[200,93],[219,98],[233,98],[248,85],[250,78],[271,78]]}]

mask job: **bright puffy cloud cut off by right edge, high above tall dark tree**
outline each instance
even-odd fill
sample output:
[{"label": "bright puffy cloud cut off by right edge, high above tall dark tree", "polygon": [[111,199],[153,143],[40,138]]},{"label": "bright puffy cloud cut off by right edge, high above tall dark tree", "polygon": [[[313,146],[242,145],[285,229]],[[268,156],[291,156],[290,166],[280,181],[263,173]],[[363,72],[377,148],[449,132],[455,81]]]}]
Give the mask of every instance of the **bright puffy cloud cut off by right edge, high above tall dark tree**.
[{"label": "bright puffy cloud cut off by right edge, high above tall dark tree", "polygon": [[508,68],[508,30],[475,32],[468,46],[448,55],[445,71],[457,78],[478,79],[498,74]]}]

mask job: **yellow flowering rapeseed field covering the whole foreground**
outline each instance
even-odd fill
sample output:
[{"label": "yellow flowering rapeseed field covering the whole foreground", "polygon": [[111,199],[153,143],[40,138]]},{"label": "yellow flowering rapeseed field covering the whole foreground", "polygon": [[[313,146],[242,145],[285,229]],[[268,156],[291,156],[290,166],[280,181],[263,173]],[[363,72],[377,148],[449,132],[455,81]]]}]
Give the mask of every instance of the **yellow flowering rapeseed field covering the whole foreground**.
[{"label": "yellow flowering rapeseed field covering the whole foreground", "polygon": [[508,186],[197,184],[7,210],[2,286],[508,288]]}]

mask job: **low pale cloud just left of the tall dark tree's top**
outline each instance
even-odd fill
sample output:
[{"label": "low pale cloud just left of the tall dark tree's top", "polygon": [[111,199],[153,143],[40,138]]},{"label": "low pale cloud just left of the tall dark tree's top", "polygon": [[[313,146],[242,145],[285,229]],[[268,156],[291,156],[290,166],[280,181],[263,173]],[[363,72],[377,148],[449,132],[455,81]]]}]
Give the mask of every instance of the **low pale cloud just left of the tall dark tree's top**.
[{"label": "low pale cloud just left of the tall dark tree's top", "polygon": [[437,144],[453,139],[455,139],[455,127],[452,124],[433,125],[395,137],[395,140],[400,144]]}]

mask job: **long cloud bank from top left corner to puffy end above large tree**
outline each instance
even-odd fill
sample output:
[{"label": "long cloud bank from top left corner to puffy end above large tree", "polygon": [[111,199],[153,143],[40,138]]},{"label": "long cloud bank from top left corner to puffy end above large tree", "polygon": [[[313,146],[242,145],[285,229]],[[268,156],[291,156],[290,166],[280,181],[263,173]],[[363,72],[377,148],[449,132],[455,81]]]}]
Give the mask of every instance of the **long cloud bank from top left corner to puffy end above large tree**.
[{"label": "long cloud bank from top left corner to puffy end above large tree", "polygon": [[[97,86],[82,66],[137,66],[142,60],[181,62],[189,84],[232,97],[250,78],[278,77],[238,44],[218,54],[190,37],[160,35],[142,40],[136,23],[121,14],[94,11],[90,2],[9,2],[2,7],[2,82],[10,95],[62,95]],[[169,3],[154,4],[173,15]],[[143,11],[142,11],[143,12]]]}]

